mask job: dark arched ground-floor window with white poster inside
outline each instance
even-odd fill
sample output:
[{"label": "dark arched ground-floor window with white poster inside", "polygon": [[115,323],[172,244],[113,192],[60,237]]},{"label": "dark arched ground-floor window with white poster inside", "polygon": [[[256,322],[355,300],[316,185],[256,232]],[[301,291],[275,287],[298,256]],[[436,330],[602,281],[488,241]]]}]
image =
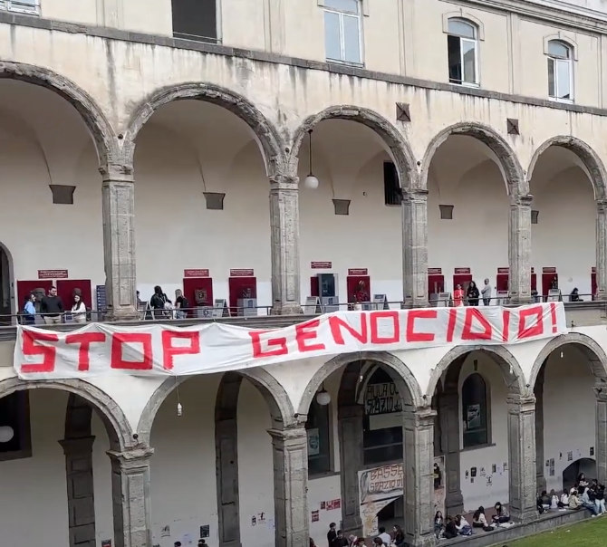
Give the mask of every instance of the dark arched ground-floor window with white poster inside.
[{"label": "dark arched ground-floor window with white poster inside", "polygon": [[487,419],[487,383],[475,372],[461,387],[462,419],[464,421],[464,448],[489,443]]}]

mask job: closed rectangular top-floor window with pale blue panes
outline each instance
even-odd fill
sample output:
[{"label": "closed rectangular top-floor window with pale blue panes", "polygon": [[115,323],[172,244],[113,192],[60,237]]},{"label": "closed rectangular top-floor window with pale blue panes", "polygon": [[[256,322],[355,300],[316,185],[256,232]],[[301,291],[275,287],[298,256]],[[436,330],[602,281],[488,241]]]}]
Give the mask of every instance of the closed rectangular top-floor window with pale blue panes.
[{"label": "closed rectangular top-floor window with pale blue panes", "polygon": [[361,0],[323,0],[327,61],[362,64]]}]

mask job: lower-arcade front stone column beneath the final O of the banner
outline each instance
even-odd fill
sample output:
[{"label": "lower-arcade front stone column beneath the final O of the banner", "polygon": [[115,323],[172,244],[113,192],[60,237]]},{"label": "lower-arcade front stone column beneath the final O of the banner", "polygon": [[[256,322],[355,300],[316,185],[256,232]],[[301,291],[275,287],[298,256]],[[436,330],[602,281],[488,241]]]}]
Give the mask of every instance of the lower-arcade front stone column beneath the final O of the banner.
[{"label": "lower-arcade front stone column beneath the final O of the banner", "polygon": [[509,395],[508,405],[508,479],[510,514],[520,523],[538,516],[535,500],[535,397]]}]

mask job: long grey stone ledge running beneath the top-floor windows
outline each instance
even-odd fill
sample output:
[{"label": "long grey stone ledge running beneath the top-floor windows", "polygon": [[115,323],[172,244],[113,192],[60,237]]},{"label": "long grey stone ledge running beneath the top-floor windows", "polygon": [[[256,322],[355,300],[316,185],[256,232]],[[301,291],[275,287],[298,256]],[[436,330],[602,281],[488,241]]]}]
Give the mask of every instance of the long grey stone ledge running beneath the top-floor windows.
[{"label": "long grey stone ledge running beneath the top-floor windows", "polygon": [[[224,55],[228,57],[238,57],[249,61],[270,62],[275,64],[286,64],[306,70],[317,70],[344,76],[352,76],[366,80],[375,80],[379,82],[393,83],[405,87],[416,87],[430,91],[447,91],[478,97],[480,99],[489,99],[494,101],[514,102],[515,104],[524,104],[552,110],[565,110],[579,114],[591,114],[593,116],[607,116],[607,109],[593,106],[583,106],[579,104],[569,104],[535,97],[526,97],[524,95],[515,95],[500,91],[487,91],[481,89],[467,88],[454,85],[447,82],[431,82],[429,80],[420,80],[410,78],[399,74],[389,74],[386,72],[375,72],[355,66],[332,64],[329,62],[312,61],[300,59],[287,55],[275,53],[266,53],[262,51],[246,50],[242,48],[229,47],[226,45],[214,43],[201,43],[189,40],[181,40],[171,36],[160,36],[157,34],[143,34],[113,29],[101,26],[87,26],[85,24],[66,23],[63,21],[54,21],[51,19],[42,19],[32,15],[12,14],[0,12],[0,24],[13,24],[30,28],[37,28],[47,31],[56,31],[68,34],[84,34],[94,38],[106,40],[119,40],[121,42],[142,43],[148,45],[159,45],[199,53]],[[19,62],[19,60],[13,60]]]}]

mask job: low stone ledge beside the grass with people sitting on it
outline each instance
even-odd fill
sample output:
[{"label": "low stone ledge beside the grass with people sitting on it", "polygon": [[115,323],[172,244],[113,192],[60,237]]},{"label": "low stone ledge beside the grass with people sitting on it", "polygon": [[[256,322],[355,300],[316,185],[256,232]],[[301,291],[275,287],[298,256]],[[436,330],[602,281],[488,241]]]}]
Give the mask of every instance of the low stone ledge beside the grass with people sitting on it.
[{"label": "low stone ledge beside the grass with people sitting on it", "polygon": [[[548,513],[539,517],[533,523],[516,524],[510,528],[498,528],[494,532],[475,533],[475,535],[458,538],[456,540],[444,540],[437,545],[465,545],[466,547],[490,547],[491,545],[504,545],[507,542],[554,530],[560,526],[567,526],[590,519],[590,513],[585,510]],[[602,518],[602,517],[601,517]]]}]

